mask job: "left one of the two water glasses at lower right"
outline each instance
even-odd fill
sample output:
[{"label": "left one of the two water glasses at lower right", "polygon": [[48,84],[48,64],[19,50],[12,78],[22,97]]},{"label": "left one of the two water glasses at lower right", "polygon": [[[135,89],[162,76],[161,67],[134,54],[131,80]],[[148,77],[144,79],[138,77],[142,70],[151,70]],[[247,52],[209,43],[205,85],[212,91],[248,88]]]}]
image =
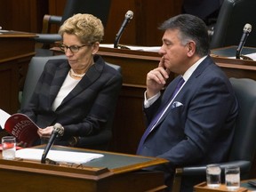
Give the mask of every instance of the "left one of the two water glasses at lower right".
[{"label": "left one of the two water glasses at lower right", "polygon": [[209,188],[220,188],[221,169],[218,164],[208,164],[206,166],[206,181]]}]

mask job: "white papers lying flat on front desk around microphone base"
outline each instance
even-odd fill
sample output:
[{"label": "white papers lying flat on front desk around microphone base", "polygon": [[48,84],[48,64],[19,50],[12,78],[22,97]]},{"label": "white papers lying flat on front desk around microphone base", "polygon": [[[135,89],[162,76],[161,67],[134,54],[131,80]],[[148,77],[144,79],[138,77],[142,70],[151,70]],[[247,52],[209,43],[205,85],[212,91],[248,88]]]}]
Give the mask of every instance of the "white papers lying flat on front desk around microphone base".
[{"label": "white papers lying flat on front desk around microphone base", "polygon": [[[44,149],[40,148],[22,148],[16,151],[16,157],[25,160],[41,161],[43,152]],[[84,164],[92,161],[92,159],[100,158],[102,156],[102,154],[94,153],[50,150],[46,158],[59,163]]]}]

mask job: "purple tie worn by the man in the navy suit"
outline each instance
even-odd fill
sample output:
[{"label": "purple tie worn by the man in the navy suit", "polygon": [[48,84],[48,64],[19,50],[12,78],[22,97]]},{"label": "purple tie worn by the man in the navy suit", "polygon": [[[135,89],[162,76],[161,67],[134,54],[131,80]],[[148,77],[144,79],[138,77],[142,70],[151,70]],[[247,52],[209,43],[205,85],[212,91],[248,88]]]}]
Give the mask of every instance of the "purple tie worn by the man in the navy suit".
[{"label": "purple tie worn by the man in the navy suit", "polygon": [[165,109],[168,107],[168,104],[170,103],[170,101],[172,101],[173,97],[175,97],[175,95],[177,94],[177,92],[179,92],[180,90],[180,87],[182,86],[182,84],[184,84],[184,79],[182,76],[180,76],[180,79],[179,79],[179,82],[178,84],[176,85],[176,88],[174,90],[174,92],[172,93],[172,96],[171,98],[165,102],[165,104],[160,107],[156,113],[156,116],[154,116],[154,118],[152,119],[152,121],[150,122],[150,124],[148,125],[148,128],[147,130],[144,132],[144,134],[142,135],[141,137],[141,140],[140,140],[140,144],[139,144],[139,147],[137,149],[137,154],[140,154],[140,150],[141,150],[141,147],[142,147],[142,144],[144,143],[144,140],[147,138],[149,132],[153,129],[153,127],[155,126],[155,124],[159,121],[159,119],[161,118],[161,116],[163,116],[164,114],[164,111]]}]

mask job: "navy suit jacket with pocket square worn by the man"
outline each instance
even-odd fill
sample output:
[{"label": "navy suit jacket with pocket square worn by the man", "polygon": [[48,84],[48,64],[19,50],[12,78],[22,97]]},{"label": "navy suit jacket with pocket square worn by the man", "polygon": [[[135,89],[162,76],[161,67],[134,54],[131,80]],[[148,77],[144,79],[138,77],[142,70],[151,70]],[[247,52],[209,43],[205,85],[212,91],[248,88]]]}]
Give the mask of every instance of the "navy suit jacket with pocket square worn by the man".
[{"label": "navy suit jacket with pocket square worn by the man", "polygon": [[[162,98],[145,109],[148,122],[176,84],[177,78],[168,85]],[[225,161],[234,134],[237,108],[228,77],[208,56],[148,134],[140,155],[168,159],[169,164],[155,167],[168,176],[178,166]]]}]

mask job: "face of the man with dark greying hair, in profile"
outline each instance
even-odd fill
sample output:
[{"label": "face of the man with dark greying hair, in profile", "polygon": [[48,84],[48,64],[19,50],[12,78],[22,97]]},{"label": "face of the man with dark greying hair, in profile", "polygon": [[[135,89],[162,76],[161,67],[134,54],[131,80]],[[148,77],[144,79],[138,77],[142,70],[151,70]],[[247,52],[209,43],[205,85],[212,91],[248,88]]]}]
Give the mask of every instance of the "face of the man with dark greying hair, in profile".
[{"label": "face of the man with dark greying hair, in profile", "polygon": [[159,53],[164,57],[164,67],[174,73],[183,74],[188,69],[188,45],[181,44],[177,29],[167,29],[162,41]]}]

